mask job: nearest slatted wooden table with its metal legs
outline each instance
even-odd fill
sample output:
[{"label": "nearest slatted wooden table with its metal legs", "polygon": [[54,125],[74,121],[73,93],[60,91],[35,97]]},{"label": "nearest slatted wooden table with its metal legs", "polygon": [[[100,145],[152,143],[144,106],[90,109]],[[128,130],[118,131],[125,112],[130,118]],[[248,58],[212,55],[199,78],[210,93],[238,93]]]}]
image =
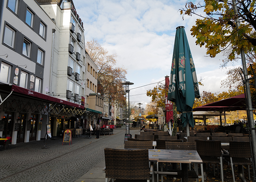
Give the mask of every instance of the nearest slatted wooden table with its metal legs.
[{"label": "nearest slatted wooden table with its metal legs", "polygon": [[[158,150],[149,149],[148,158],[150,162],[157,163],[181,163],[182,167],[182,182],[188,182],[188,164],[196,163],[201,164],[201,174],[199,176],[204,182],[204,172],[203,172],[203,161],[199,154],[195,150]],[[168,174],[168,172],[158,172],[157,174]]]}]

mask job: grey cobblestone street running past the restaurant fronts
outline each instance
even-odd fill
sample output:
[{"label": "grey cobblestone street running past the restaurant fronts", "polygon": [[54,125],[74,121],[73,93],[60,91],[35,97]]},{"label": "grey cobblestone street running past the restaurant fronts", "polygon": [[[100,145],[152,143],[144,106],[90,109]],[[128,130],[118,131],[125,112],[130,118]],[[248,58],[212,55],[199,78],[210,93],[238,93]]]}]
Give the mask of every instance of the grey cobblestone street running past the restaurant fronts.
[{"label": "grey cobblestone street running past the restaurant fronts", "polygon": [[[130,130],[130,134],[138,134]],[[114,135],[95,139],[72,138],[72,145],[62,145],[62,138],[10,145],[0,151],[0,181],[59,182],[75,181],[104,159],[104,148],[118,148],[124,143],[125,128]]]}]

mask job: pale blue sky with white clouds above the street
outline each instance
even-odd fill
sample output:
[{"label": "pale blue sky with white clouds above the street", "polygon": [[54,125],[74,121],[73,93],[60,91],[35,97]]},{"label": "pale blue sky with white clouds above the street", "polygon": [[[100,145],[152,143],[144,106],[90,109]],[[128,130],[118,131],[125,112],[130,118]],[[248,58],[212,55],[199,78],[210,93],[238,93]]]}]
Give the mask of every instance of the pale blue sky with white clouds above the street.
[{"label": "pale blue sky with white clouds above the street", "polygon": [[[165,76],[170,76],[176,27],[184,26],[188,37],[198,80],[199,91],[222,92],[221,80],[227,69],[220,68],[222,54],[206,57],[205,47],[195,44],[190,29],[198,16],[184,16],[179,9],[186,0],[73,0],[84,24],[85,42],[97,40],[109,54],[117,54],[116,66],[127,69],[130,102],[151,101],[146,91],[153,89]],[[195,1],[197,3],[197,1]],[[202,3],[202,2],[201,2]],[[200,12],[203,14],[203,12]],[[146,85],[146,86],[145,86]]]}]

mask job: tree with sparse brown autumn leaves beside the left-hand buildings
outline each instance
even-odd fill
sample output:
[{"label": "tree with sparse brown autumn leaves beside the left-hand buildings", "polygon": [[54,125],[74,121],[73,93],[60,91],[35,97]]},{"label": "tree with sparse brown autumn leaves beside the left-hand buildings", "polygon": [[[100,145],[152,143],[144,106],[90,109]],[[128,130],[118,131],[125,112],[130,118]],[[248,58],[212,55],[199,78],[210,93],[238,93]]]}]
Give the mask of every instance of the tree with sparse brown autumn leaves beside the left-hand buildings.
[{"label": "tree with sparse brown autumn leaves beside the left-hand buildings", "polygon": [[127,71],[123,67],[116,67],[116,54],[109,54],[97,40],[88,41],[85,45],[86,52],[98,67],[98,92],[107,97],[106,101],[118,102],[124,106],[122,82],[126,81]]}]

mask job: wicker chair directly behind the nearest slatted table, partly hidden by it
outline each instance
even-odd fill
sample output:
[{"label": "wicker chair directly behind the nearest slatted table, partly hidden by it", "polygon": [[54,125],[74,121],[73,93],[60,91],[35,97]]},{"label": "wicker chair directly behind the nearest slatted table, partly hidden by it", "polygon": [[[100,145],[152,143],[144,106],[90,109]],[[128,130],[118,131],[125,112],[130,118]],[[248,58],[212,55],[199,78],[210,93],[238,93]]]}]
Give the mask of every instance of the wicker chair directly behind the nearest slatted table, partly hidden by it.
[{"label": "wicker chair directly behind the nearest slatted table, partly hidden by it", "polygon": [[[169,150],[196,150],[196,142],[191,141],[191,142],[165,142],[165,148]],[[196,164],[195,170],[189,170],[188,171],[188,178],[201,178],[203,181],[203,165],[201,164],[201,176],[198,176],[198,166]],[[174,170],[173,172],[178,172],[178,176],[180,171],[179,170]],[[167,175],[169,176],[169,175]],[[170,176],[170,177],[175,177],[175,176]]]}]

